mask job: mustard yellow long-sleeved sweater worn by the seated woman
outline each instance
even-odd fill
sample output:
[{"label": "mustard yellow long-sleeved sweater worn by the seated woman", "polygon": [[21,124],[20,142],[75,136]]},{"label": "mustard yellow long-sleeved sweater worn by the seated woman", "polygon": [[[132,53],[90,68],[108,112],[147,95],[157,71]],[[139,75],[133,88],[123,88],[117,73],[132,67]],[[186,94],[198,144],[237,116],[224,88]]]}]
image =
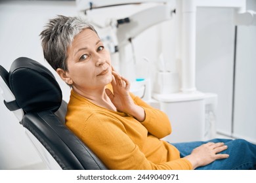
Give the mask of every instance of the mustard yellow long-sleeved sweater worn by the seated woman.
[{"label": "mustard yellow long-sleeved sweater worn by the seated woman", "polygon": [[102,160],[108,169],[192,169],[179,150],[160,139],[171,133],[167,115],[131,94],[144,108],[139,122],[123,112],[99,107],[73,90],[66,125]]}]

